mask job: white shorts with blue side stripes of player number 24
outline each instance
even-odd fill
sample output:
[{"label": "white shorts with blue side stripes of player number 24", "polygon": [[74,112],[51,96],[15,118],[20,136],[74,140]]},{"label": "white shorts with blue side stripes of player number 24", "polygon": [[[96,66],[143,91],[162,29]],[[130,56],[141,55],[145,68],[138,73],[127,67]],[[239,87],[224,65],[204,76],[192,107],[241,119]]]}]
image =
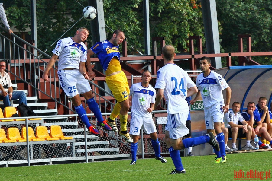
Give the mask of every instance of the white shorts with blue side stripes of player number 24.
[{"label": "white shorts with blue side stripes of player number 24", "polygon": [[171,139],[182,138],[189,133],[189,129],[185,125],[188,115],[189,111],[185,113],[167,115],[165,130],[169,131],[169,137]]}]

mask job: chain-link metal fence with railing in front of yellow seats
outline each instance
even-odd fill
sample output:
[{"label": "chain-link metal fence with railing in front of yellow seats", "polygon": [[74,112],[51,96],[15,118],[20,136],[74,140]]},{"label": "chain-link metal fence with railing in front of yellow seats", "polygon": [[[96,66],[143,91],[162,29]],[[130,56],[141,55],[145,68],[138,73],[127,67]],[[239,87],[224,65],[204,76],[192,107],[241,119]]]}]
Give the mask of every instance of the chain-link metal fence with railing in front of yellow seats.
[{"label": "chain-link metal fence with railing in front of yellow seats", "polygon": [[[164,111],[162,111],[163,113]],[[59,115],[76,117],[77,115]],[[93,114],[88,114],[93,116]],[[0,167],[8,165],[35,165],[65,162],[89,162],[96,160],[127,159],[130,157],[130,144],[124,141],[118,133],[100,129],[100,135],[89,134],[81,121],[46,122],[44,117],[29,120],[29,117],[1,118],[0,121]],[[57,117],[57,116],[51,116]],[[25,120],[27,118],[27,120]],[[3,120],[5,119],[5,120]],[[95,120],[90,120],[96,126]],[[164,143],[165,117],[154,117],[161,153],[167,154]],[[129,127],[130,119],[128,119]],[[116,120],[120,128],[119,120]],[[97,127],[97,126],[96,126]],[[58,132],[58,129],[60,133]],[[98,129],[100,127],[97,127]],[[139,139],[137,154],[154,154],[149,135]]]}]

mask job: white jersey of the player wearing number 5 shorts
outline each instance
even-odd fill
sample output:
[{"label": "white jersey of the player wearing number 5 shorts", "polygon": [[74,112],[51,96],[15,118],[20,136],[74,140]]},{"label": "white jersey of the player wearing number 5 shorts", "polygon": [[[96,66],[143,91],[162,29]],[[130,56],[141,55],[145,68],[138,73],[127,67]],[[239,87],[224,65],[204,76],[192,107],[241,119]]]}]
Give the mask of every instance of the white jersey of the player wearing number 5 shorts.
[{"label": "white jersey of the player wearing number 5 shorts", "polygon": [[201,93],[204,106],[208,108],[224,101],[222,90],[229,86],[220,74],[211,71],[207,77],[204,77],[203,73],[197,76],[196,87]]}]

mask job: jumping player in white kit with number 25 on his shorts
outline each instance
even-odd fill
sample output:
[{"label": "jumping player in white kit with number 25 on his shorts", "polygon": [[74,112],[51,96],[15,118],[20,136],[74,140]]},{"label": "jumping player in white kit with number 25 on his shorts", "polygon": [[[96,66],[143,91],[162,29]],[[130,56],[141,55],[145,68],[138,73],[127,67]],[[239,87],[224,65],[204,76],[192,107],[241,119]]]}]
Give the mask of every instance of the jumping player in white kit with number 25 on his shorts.
[{"label": "jumping player in white kit with number 25 on his shorts", "polygon": [[[107,131],[111,131],[111,127],[102,118],[98,104],[94,100],[91,86],[88,82],[89,75],[86,74],[85,63],[87,60],[87,47],[83,43],[89,35],[87,28],[79,28],[74,37],[64,38],[57,42],[56,48],[52,51],[53,56],[49,60],[47,67],[44,70],[42,78],[48,81],[48,72],[53,67],[59,57],[58,76],[60,85],[65,94],[70,97],[76,113],[81,118],[82,122],[93,135],[99,135],[99,131],[90,123],[84,110],[80,95],[81,94],[89,106],[89,109],[94,113],[97,119],[97,125],[103,127]],[[90,78],[94,78],[95,74]]]}]

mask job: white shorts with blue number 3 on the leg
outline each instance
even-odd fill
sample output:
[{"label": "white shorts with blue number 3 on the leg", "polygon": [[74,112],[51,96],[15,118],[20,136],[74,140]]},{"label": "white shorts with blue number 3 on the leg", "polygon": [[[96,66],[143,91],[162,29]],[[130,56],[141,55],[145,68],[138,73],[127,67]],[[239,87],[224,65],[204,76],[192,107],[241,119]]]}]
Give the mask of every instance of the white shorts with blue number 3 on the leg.
[{"label": "white shorts with blue number 3 on the leg", "polygon": [[146,134],[157,132],[153,118],[144,118],[142,116],[131,113],[130,131],[131,135],[140,135],[141,128]]}]

